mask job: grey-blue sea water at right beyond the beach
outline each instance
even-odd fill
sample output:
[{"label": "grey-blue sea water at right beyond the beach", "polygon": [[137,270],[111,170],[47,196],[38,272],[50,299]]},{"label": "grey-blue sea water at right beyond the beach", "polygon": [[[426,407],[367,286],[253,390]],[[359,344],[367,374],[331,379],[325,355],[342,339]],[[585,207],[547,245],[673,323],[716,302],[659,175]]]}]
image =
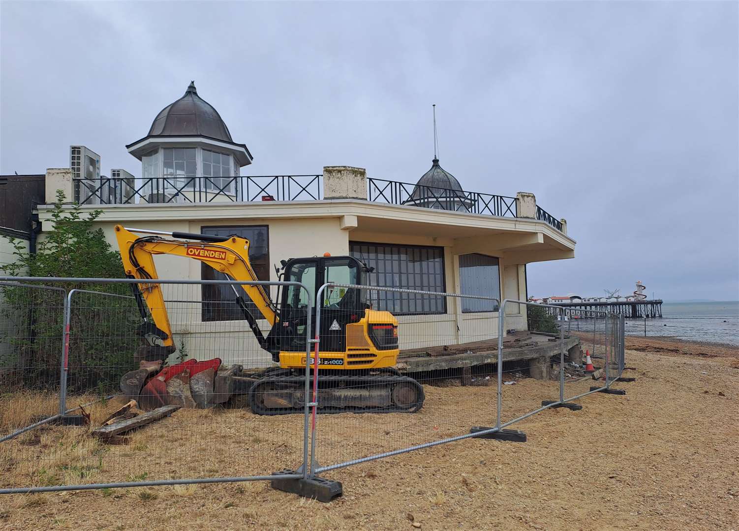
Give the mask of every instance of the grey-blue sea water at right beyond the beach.
[{"label": "grey-blue sea water at right beyond the beach", "polygon": [[[644,336],[644,319],[626,323],[626,335]],[[739,346],[739,301],[663,303],[662,318],[647,319],[650,336]]]}]

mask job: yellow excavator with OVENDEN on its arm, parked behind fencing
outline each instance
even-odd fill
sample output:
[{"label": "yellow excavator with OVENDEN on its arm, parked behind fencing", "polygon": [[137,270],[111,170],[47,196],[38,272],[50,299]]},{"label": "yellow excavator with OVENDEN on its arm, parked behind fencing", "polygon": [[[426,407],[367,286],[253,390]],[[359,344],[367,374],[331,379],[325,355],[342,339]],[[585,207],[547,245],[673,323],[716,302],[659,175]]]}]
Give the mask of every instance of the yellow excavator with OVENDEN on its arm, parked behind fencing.
[{"label": "yellow excavator with OVENDEN on its arm, parked behind fencing", "polygon": [[[276,268],[279,280],[302,283],[310,293],[296,285],[280,287],[276,304],[264,286],[247,284],[258,280],[249,261],[247,239],[121,225],[116,225],[115,236],[126,276],[142,280],[132,287],[143,318],[139,333],[149,339],[143,352],[140,349],[138,353],[138,359],[144,362],[164,363],[176,349],[161,284],[146,282],[157,278],[155,255],[193,258],[231,280],[245,282],[239,285],[253,306],[250,309],[236,286],[231,286],[234,301],[259,346],[279,363],[256,375],[235,375],[236,380],[246,383],[242,392],[248,394],[256,414],[304,411],[308,298],[315,301],[316,288],[327,282],[365,285],[367,273],[372,271],[353,256],[326,253],[282,260],[282,267]],[[415,413],[423,405],[423,387],[393,367],[400,352],[398,320],[390,312],[372,309],[365,301],[365,292],[329,287],[324,293],[321,329],[316,331],[320,336],[319,411]],[[257,310],[270,324],[267,335],[259,328]],[[315,308],[312,312],[315,323]],[[311,358],[311,366],[313,361]],[[125,380],[126,376],[122,386]]]}]

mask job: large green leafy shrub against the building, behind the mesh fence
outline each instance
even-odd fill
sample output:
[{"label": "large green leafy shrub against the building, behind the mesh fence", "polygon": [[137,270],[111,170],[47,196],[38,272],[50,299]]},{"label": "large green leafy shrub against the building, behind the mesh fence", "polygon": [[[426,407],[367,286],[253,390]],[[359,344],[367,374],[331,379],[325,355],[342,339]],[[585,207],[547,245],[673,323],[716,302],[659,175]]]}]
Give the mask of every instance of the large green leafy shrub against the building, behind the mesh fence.
[{"label": "large green leafy shrub against the building, behind the mesh fence", "polygon": [[[93,223],[102,210],[83,213],[80,205],[64,205],[57,191],[52,230],[39,238],[30,253],[21,240],[13,244],[11,264],[0,267],[8,276],[123,278],[118,251],[112,250],[101,228]],[[69,335],[68,387],[72,391],[100,392],[117,388],[120,375],[129,371],[138,344],[134,329],[140,321],[128,284],[84,281],[39,281],[38,286],[62,287],[64,292],[30,287],[2,287],[0,384],[33,389],[58,386],[64,326],[64,298],[72,289],[97,293],[72,295]]]}]

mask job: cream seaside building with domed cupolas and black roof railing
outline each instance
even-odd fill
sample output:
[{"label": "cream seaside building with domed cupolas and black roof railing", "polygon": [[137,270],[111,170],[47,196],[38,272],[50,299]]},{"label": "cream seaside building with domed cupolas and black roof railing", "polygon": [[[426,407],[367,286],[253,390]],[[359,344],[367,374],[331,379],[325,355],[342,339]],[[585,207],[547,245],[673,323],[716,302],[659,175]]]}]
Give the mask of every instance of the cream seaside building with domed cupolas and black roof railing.
[{"label": "cream seaside building with domed cupolas and black roof railing", "polygon": [[[327,165],[321,174],[241,177],[250,165],[247,146],[236,143],[219,113],[197,95],[185,95],[154,117],[148,134],[126,146],[140,161],[140,177],[101,177],[101,190],[75,196],[69,169],[48,170],[46,204],[38,205],[44,231],[51,230],[51,203],[58,189],[103,208],[97,225],[115,247],[113,227],[188,233],[239,234],[251,241],[250,258],[262,280],[276,280],[273,264],[299,256],[353,254],[375,267],[378,285],[525,300],[526,264],[573,258],[575,241],[564,219],[537,205],[532,193],[514,196],[463,191],[438,160],[415,184],[373,179],[363,168]],[[502,179],[501,182],[505,183]],[[443,185],[440,186],[440,185]],[[514,181],[506,185],[510,191]],[[95,194],[92,194],[95,195]],[[218,278],[200,262],[157,257],[160,278]],[[73,272],[69,272],[70,275]],[[196,300],[232,300],[228,290],[193,287]],[[401,322],[401,347],[423,346],[421,327],[435,323],[449,343],[497,336],[497,304],[450,299],[423,309],[412,301],[389,301]],[[423,315],[418,315],[422,313]],[[508,309],[506,329],[525,329],[525,308]],[[177,322],[175,332],[192,344],[222,332],[253,340],[235,311],[203,305],[197,322]],[[414,327],[416,330],[414,331]]]}]

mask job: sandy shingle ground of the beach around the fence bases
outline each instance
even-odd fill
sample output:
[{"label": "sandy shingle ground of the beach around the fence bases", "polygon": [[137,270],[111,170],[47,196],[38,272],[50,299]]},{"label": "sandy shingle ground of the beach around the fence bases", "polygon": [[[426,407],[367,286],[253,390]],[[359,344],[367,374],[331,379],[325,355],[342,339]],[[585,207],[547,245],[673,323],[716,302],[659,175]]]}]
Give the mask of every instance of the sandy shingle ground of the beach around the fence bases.
[{"label": "sandy shingle ground of the beach around the fence bases", "polygon": [[[636,369],[624,376],[637,380],[616,384],[626,396],[525,419],[514,428],[526,443],[468,439],[333,470],[344,497],[331,504],[263,482],[13,495],[0,497],[0,529],[739,530],[739,349],[664,338],[627,349]],[[556,383],[503,391],[510,419]],[[495,408],[494,387],[426,386],[426,398],[415,415],[320,417],[321,464],[460,434]],[[0,445],[1,483],[264,473],[298,462],[301,445],[302,417],[178,411],[128,446],[103,447],[86,428]]]}]

